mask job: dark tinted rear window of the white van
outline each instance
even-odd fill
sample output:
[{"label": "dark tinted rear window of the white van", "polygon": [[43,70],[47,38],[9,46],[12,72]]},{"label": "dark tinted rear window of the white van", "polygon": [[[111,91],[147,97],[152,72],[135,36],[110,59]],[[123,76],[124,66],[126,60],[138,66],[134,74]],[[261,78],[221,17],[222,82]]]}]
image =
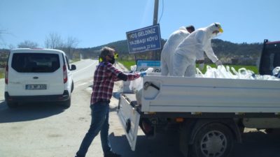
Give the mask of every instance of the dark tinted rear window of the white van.
[{"label": "dark tinted rear window of the white van", "polygon": [[12,68],[19,73],[52,73],[60,67],[58,54],[15,53]]}]

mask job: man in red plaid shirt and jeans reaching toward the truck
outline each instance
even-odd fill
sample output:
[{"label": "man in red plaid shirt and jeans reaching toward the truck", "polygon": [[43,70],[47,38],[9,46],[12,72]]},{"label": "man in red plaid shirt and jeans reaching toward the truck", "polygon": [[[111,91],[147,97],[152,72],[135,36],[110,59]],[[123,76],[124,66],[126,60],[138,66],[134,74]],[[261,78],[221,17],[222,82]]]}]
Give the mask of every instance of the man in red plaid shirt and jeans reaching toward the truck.
[{"label": "man in red plaid shirt and jeans reaching toward the truck", "polygon": [[115,50],[103,47],[101,50],[102,62],[99,63],[95,72],[92,87],[90,108],[92,110],[92,121],[90,129],[86,133],[76,157],[85,157],[88,147],[94,137],[99,133],[102,141],[104,157],[120,157],[112,151],[109,141],[109,103],[113,93],[114,82],[123,80],[135,80],[143,77],[145,73],[126,74],[113,66]]}]

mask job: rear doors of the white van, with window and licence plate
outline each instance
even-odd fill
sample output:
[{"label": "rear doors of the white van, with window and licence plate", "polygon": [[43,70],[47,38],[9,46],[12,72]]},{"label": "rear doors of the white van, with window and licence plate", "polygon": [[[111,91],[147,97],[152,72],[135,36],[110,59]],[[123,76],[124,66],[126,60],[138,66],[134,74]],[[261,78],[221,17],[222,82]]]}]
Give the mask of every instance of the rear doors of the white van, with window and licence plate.
[{"label": "rear doors of the white van, with window and licence plate", "polygon": [[10,96],[63,94],[63,60],[59,52],[11,52],[9,59]]}]

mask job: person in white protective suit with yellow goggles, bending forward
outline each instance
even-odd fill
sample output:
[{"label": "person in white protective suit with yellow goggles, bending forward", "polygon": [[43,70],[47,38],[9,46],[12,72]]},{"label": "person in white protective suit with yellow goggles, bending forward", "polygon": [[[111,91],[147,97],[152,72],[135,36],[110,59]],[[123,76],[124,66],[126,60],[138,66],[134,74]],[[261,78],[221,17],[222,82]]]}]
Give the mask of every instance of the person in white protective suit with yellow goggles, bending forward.
[{"label": "person in white protective suit with yellow goggles, bending forward", "polygon": [[220,23],[214,23],[187,36],[175,50],[172,75],[195,77],[195,60],[197,56],[203,55],[203,52],[217,66],[222,65],[211,47],[211,39],[218,33],[223,33],[223,29]]}]

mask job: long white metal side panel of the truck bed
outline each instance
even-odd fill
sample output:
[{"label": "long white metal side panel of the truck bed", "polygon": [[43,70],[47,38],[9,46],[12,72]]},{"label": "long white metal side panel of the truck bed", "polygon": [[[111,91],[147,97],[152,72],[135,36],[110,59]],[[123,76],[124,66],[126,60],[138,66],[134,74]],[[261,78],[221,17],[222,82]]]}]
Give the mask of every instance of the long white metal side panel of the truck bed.
[{"label": "long white metal side panel of the truck bed", "polygon": [[144,77],[141,112],[280,113],[280,82]]}]

